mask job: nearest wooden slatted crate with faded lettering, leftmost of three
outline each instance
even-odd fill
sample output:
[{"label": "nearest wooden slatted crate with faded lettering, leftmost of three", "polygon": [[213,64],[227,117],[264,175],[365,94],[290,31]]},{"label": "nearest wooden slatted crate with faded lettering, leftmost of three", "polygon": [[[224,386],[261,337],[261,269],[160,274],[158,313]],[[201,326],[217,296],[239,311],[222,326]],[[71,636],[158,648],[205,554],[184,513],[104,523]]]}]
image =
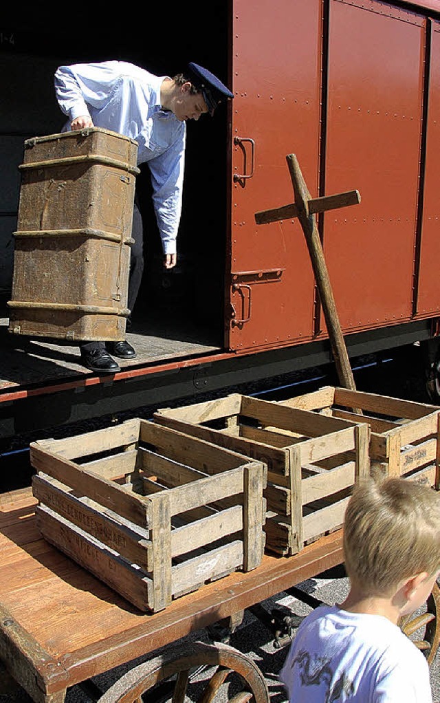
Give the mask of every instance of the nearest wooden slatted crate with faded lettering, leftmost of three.
[{"label": "nearest wooden slatted crate with faded lettering, leftmost of three", "polygon": [[37,520],[141,610],[264,553],[266,466],[146,420],[31,444]]}]

